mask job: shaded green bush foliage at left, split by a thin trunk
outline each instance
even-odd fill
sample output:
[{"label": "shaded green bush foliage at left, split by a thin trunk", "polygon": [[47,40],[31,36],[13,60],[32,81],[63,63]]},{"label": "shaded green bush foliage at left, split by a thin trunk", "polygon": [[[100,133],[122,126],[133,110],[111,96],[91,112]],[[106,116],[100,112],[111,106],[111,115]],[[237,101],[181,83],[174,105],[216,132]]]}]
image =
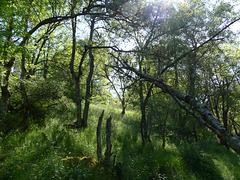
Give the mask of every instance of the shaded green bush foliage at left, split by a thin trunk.
[{"label": "shaded green bush foliage at left, split by a thin trunk", "polygon": [[[62,94],[62,84],[53,80],[44,80],[33,78],[31,81],[25,81],[28,97],[28,115],[31,123],[39,126],[44,125],[44,119],[56,111],[63,101],[69,101]],[[12,87],[12,97],[9,100],[9,113],[6,120],[1,122],[1,131],[4,134],[16,129],[21,129],[24,119],[23,99],[21,96],[20,85]]]}]

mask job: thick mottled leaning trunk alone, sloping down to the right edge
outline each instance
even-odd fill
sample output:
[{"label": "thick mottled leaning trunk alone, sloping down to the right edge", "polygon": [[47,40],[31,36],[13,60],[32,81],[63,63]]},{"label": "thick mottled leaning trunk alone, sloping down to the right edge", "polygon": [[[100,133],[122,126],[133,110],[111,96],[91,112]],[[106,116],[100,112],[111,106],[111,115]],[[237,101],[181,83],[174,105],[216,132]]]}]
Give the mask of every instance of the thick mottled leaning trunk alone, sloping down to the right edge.
[{"label": "thick mottled leaning trunk alone, sloping down to the right edge", "polygon": [[[171,86],[168,86],[162,79],[140,73],[135,68],[129,66],[127,63],[124,63],[123,65],[125,69],[135,72],[139,77],[152,82],[156,87],[161,88],[163,92],[171,95],[181,108],[192,114],[192,116],[194,116],[199,121],[199,123],[211,129],[212,132],[218,136],[222,144],[240,154],[240,139],[227,131],[227,129],[221,125],[220,121],[217,120],[212,115],[211,111],[208,110],[202,103],[197,101],[194,97],[188,96],[175,90]],[[188,106],[183,103],[188,104]]]}]

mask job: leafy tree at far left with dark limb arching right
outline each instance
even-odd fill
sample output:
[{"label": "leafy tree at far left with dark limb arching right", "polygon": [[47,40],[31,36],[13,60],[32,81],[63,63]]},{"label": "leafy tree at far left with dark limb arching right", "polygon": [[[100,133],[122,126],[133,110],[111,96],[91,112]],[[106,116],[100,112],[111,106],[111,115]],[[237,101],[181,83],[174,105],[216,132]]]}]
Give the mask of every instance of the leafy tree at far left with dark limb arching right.
[{"label": "leafy tree at far left with dark limb arching right", "polygon": [[[75,2],[74,2],[75,3]],[[74,4],[73,3],[73,4]],[[20,4],[19,8],[18,5]],[[62,3],[50,3],[48,5],[47,2],[43,1],[9,1],[8,3],[4,4],[5,8],[3,11],[3,24],[6,24],[7,26],[4,26],[4,36],[1,39],[4,41],[3,48],[1,48],[1,54],[3,54],[3,61],[1,61],[3,66],[3,77],[1,78],[1,118],[5,118],[5,115],[8,111],[8,102],[10,98],[10,92],[9,92],[9,79],[11,77],[11,69],[14,67],[14,63],[18,60],[19,55],[22,57],[22,80],[27,76],[27,74],[33,73],[34,68],[30,68],[29,72],[27,72],[26,69],[26,52],[27,48],[26,46],[30,41],[32,41],[32,38],[34,38],[34,34],[41,34],[41,28],[45,27],[45,25],[51,25],[50,29],[46,31],[44,35],[42,35],[42,38],[40,38],[36,43],[38,43],[41,39],[46,38],[51,32],[53,32],[56,28],[56,24],[59,22],[63,22],[65,20],[69,19],[76,19],[78,16],[101,16],[101,18],[106,18],[112,16],[111,13],[113,13],[113,10],[110,10],[106,12],[106,4],[97,4],[96,2],[89,1],[89,4],[80,4],[80,5],[86,5],[86,7],[83,7],[82,11],[80,13],[74,13],[72,7],[72,11],[67,12],[64,8],[62,8]],[[120,5],[120,4],[119,4]],[[18,8],[17,8],[18,7]],[[33,8],[33,9],[31,9]],[[9,10],[8,10],[9,9]],[[31,11],[30,11],[31,9]],[[104,10],[105,9],[105,10]],[[29,10],[28,16],[31,17],[28,18],[25,16],[26,10]],[[115,13],[115,12],[114,12]],[[49,16],[46,17],[45,14],[48,14]],[[10,17],[10,18],[9,18]],[[45,19],[44,19],[45,18]],[[21,21],[17,21],[17,19],[20,19]],[[26,19],[29,20],[29,22],[26,24]],[[55,25],[54,25],[55,24]],[[29,26],[26,26],[29,25]],[[15,29],[16,28],[16,29]],[[21,31],[22,30],[22,31]],[[41,35],[40,35],[41,36]],[[33,40],[34,41],[34,40]],[[44,45],[44,43],[43,43]],[[11,49],[11,51],[9,51]],[[73,48],[75,49],[75,48]],[[91,52],[91,50],[89,50]],[[74,57],[74,53],[72,53]],[[30,55],[31,56],[31,55]],[[74,58],[73,58],[74,59]],[[36,59],[38,61],[38,58]],[[46,62],[46,61],[45,61]],[[36,61],[35,63],[36,64]],[[45,72],[46,72],[46,66],[45,66]],[[31,74],[30,73],[30,74]],[[89,75],[90,77],[91,75]],[[89,78],[91,79],[91,78]],[[24,92],[24,88],[22,86],[22,96],[24,100],[24,106],[27,107],[27,95]],[[86,105],[87,108],[88,105]],[[27,114],[27,108],[26,113]],[[87,110],[86,110],[87,112]],[[84,116],[86,117],[86,115]]]}]

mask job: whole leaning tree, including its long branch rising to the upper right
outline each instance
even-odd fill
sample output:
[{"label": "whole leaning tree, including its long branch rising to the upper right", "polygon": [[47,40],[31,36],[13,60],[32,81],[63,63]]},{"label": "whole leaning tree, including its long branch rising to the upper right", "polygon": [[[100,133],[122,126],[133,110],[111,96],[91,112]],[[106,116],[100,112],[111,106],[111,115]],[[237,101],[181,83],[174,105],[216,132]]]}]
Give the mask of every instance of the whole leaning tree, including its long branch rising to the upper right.
[{"label": "whole leaning tree, including its long branch rising to the upper right", "polygon": [[[229,6],[226,6],[226,4],[220,4],[220,6],[218,8],[225,10],[225,12],[229,12]],[[219,9],[217,9],[217,11]],[[194,11],[195,10],[196,9],[194,9]],[[197,18],[201,19],[201,17],[197,17]],[[118,64],[121,64],[121,67],[115,66],[114,68],[116,68],[116,69],[124,68],[125,70],[132,71],[140,79],[151,82],[155,86],[161,88],[162,91],[164,91],[165,93],[168,93],[180,105],[180,107],[182,109],[186,110],[189,114],[194,116],[200,123],[204,124],[209,129],[211,129],[215,134],[217,134],[220,141],[222,142],[222,144],[231,147],[232,149],[234,149],[236,152],[239,153],[239,151],[240,151],[239,139],[237,137],[233,136],[230,132],[228,132],[227,129],[222,127],[222,125],[219,123],[219,121],[213,117],[211,111],[209,111],[204,105],[202,105],[202,103],[200,101],[196,100],[194,97],[192,97],[190,95],[186,95],[184,93],[181,93],[181,92],[175,90],[174,88],[172,88],[171,86],[167,85],[166,82],[168,82],[168,79],[164,79],[167,77],[166,74],[169,74],[171,72],[170,68],[174,67],[176,64],[182,63],[184,58],[188,57],[191,54],[194,55],[194,53],[196,53],[197,51],[204,49],[210,42],[211,43],[212,42],[218,42],[218,43],[221,42],[219,40],[221,40],[221,37],[224,37],[224,35],[223,35],[224,31],[229,26],[231,26],[235,22],[239,21],[239,18],[231,19],[228,17],[221,17],[221,16],[218,16],[218,18],[219,19],[217,21],[217,25],[216,24],[215,25],[219,26],[219,24],[222,24],[222,28],[218,29],[217,31],[209,30],[209,33],[206,34],[206,36],[201,37],[198,40],[197,44],[195,44],[194,46],[188,45],[187,46],[188,49],[183,51],[182,53],[177,54],[177,56],[175,58],[171,58],[171,57],[167,58],[166,61],[164,62],[164,67],[161,70],[160,77],[157,77],[154,73],[151,74],[152,71],[145,73],[141,70],[141,68],[130,64],[129,60],[120,60],[120,58],[118,59]],[[227,21],[228,24],[225,24],[224,20],[225,20],[225,22]],[[209,19],[209,22],[211,22],[211,19]],[[186,26],[186,27],[188,27],[188,26]],[[215,26],[212,26],[211,28],[214,28],[214,27]],[[194,36],[199,37],[199,36],[201,36],[202,33],[203,33],[202,31],[196,32],[196,35],[194,35]],[[225,35],[228,36],[227,33]],[[182,36],[182,34],[179,34],[179,38],[181,38],[181,36]],[[164,37],[164,36],[162,36],[162,37]],[[196,40],[196,38],[195,38],[195,40]],[[204,54],[204,53],[202,53],[202,54]],[[169,54],[169,55],[171,56],[171,54]],[[144,59],[142,59],[142,60],[144,60]],[[155,61],[157,61],[157,60],[155,60]],[[146,61],[144,61],[144,62],[146,62]],[[142,64],[140,64],[140,65],[142,65]],[[156,70],[155,72],[158,72],[158,71]],[[196,73],[196,72],[194,72],[194,73]],[[165,76],[163,76],[164,74],[165,74]],[[191,82],[191,80],[193,80],[193,81]],[[195,94],[195,93],[193,93],[194,92],[193,91],[194,84],[195,84],[194,82],[195,82],[195,78],[190,77],[191,85],[189,86],[190,87],[189,92],[191,94]],[[191,88],[192,88],[192,90],[191,90]]]}]

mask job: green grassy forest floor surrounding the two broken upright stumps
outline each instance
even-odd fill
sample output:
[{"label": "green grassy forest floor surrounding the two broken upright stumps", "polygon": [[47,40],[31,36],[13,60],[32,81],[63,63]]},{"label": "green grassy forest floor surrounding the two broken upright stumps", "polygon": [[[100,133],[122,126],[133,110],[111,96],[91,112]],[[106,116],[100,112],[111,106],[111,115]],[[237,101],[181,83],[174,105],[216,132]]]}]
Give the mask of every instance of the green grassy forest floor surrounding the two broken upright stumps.
[{"label": "green grassy forest floor surrounding the two broken upright stumps", "polygon": [[[105,110],[102,147],[105,152],[105,124],[112,116],[113,165],[97,161],[96,129]],[[110,106],[92,105],[88,128],[67,128],[74,111],[47,117],[45,125],[32,125],[28,132],[15,131],[0,142],[0,179],[202,179],[240,180],[240,157],[219,146],[216,139],[178,143],[167,139],[162,148],[160,133],[143,147],[140,113]]]}]

